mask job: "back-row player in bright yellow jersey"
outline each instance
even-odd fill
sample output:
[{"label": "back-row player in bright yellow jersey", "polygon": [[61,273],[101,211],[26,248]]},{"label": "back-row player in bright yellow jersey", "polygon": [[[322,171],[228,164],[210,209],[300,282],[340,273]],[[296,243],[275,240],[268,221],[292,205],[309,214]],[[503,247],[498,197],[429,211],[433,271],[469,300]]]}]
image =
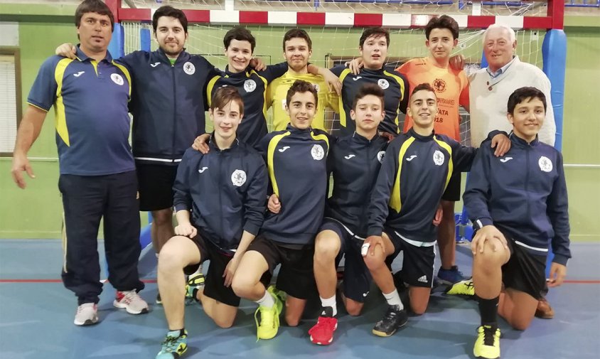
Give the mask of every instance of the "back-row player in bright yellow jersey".
[{"label": "back-row player in bright yellow jersey", "polygon": [[309,73],[312,41],[309,34],[301,28],[292,28],[285,33],[283,48],[289,70],[267,87],[267,107],[273,107],[273,130],[282,131],[289,124],[286,104],[287,91],[296,80],[303,80],[314,85],[318,97],[318,107],[311,127],[325,130],[326,107],[331,107],[338,112],[338,95],[329,89],[327,83],[336,82],[337,79],[326,82],[322,75]]}]

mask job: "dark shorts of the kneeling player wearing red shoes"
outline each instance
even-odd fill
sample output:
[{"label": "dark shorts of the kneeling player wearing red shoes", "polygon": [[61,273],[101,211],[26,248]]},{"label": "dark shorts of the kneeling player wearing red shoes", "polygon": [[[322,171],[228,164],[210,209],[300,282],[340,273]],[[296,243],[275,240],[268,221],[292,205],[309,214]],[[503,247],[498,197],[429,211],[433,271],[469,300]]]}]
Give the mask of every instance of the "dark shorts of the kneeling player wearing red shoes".
[{"label": "dark shorts of the kneeling player wearing red shoes", "polygon": [[373,278],[365,264],[363,255],[360,254],[364,240],[358,239],[350,234],[345,227],[337,220],[325,218],[319,232],[323,230],[333,230],[341,240],[340,252],[336,258],[336,267],[340,263],[342,256],[345,255],[344,262],[344,281],[343,294],[346,298],[364,303]]}]

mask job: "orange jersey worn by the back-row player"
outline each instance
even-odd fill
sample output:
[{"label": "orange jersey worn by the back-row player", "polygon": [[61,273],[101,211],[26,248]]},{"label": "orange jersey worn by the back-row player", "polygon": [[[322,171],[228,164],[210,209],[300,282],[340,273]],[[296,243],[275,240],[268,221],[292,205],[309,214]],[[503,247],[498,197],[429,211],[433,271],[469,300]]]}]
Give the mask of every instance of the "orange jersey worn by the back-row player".
[{"label": "orange jersey worn by the back-row player", "polygon": [[[414,58],[396,69],[405,75],[410,90],[424,82],[432,85],[437,96],[434,130],[461,141],[459,105],[468,107],[468,79],[462,70],[439,68],[430,58]],[[410,103],[409,103],[410,106]],[[405,118],[404,132],[412,127],[412,118]]]}]

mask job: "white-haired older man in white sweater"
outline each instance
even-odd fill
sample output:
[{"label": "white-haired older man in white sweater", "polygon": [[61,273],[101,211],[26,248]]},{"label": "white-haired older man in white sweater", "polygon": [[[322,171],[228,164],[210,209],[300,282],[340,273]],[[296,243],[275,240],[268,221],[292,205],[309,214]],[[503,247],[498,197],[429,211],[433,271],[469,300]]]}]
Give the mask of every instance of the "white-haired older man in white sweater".
[{"label": "white-haired older man in white sweater", "polygon": [[508,97],[525,86],[544,92],[548,107],[538,136],[546,144],[555,144],[556,124],[550,101],[550,80],[536,66],[522,63],[514,55],[516,48],[515,31],[508,26],[493,24],[483,34],[483,53],[488,67],[469,76],[472,146],[478,147],[492,130],[510,132],[512,127],[506,119]]}]

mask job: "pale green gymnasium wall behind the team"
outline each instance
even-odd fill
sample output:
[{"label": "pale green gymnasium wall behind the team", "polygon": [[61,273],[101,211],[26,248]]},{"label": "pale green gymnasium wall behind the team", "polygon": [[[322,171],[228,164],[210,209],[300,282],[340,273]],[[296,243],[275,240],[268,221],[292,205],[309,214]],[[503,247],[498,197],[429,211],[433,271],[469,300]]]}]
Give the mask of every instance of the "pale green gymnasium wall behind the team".
[{"label": "pale green gymnasium wall behind the team", "polygon": [[[0,4],[0,21],[18,22],[19,50],[21,55],[21,86],[23,104],[35,79],[39,65],[53,54],[60,43],[76,42],[73,24],[73,6],[23,6]],[[582,20],[584,19],[584,20]],[[600,83],[600,16],[566,18],[568,39],[567,79],[564,105],[565,164],[600,164],[600,120],[594,102],[598,102]],[[345,29],[344,38],[348,53],[358,47],[360,31]],[[252,28],[257,36],[257,55],[269,55],[273,63],[282,60],[282,51],[273,47],[263,50],[261,43],[269,43],[274,31]],[[336,36],[336,37],[333,37]],[[333,30],[313,29],[314,60],[323,60],[328,49],[340,48],[339,33]],[[281,37],[278,36],[281,41]],[[191,41],[196,41],[192,39]],[[391,56],[425,55],[422,35],[400,39],[392,36]],[[203,43],[193,44],[202,48]],[[540,41],[541,45],[541,41]],[[353,47],[354,46],[354,47]],[[419,51],[420,50],[420,51]],[[478,56],[473,49],[471,56]],[[214,53],[207,49],[208,53]],[[541,56],[541,55],[540,55]],[[215,62],[215,65],[223,65]],[[541,66],[541,61],[537,63]],[[25,107],[25,105],[23,105]],[[54,114],[48,113],[38,141],[29,152],[30,157],[43,158],[32,161],[36,179],[27,179],[26,190],[17,188],[10,176],[11,159],[0,158],[0,238],[58,238],[61,226],[61,203],[58,192],[58,163],[56,157]],[[565,168],[572,225],[572,240],[600,241],[600,221],[597,206],[600,203],[600,168]],[[142,218],[145,218],[142,215]]]}]

